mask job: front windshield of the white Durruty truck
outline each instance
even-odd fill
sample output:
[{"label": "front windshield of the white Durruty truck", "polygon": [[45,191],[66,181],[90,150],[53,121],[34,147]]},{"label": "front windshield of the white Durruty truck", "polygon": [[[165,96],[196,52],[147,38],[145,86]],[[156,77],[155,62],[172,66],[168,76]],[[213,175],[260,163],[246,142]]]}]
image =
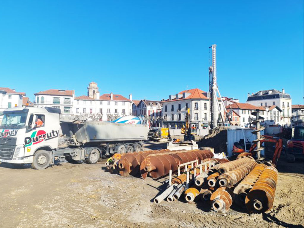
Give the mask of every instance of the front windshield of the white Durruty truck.
[{"label": "front windshield of the white Durruty truck", "polygon": [[0,128],[24,128],[27,112],[4,113]]}]

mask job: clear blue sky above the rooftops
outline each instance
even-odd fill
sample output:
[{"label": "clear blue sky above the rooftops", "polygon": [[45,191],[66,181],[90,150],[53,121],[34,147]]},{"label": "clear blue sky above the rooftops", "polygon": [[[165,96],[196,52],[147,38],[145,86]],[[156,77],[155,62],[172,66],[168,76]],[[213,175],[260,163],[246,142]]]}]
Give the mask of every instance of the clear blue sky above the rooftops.
[{"label": "clear blue sky above the rooftops", "polygon": [[221,95],[285,88],[303,104],[303,1],[1,1],[0,87],[133,99],[208,90],[217,44]]}]

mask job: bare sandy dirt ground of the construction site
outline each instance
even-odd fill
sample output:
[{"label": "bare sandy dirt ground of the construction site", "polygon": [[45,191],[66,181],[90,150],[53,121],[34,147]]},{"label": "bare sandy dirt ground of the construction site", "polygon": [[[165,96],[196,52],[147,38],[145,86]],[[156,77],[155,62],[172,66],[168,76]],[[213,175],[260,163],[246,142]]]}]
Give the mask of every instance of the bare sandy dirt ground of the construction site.
[{"label": "bare sandy dirt ground of the construction site", "polygon": [[[145,150],[166,143],[148,142]],[[98,164],[45,170],[0,164],[0,227],[303,227],[303,161],[280,159],[274,207],[266,214],[210,211],[202,201],[153,203],[164,189],[152,178],[122,177]]]}]

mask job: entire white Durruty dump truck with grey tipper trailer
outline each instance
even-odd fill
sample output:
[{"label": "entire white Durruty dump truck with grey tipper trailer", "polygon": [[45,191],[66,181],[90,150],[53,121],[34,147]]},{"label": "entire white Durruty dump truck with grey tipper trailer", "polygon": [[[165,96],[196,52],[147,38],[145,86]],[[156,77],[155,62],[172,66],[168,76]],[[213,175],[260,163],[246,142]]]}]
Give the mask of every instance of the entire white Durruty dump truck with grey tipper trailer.
[{"label": "entire white Durruty dump truck with grey tipper trailer", "polygon": [[[142,150],[148,131],[148,125],[143,122],[60,119],[60,109],[10,108],[3,111],[0,126],[0,162],[16,166],[30,163],[34,169],[47,168],[54,164],[55,158],[94,164],[110,154]],[[58,145],[61,133],[64,135],[62,146]]]}]

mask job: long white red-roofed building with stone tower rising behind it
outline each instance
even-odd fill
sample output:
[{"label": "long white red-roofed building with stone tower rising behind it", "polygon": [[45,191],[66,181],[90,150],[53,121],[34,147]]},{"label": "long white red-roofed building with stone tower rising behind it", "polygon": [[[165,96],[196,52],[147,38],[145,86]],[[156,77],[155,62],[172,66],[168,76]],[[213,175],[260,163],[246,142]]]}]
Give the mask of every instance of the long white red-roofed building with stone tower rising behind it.
[{"label": "long white red-roofed building with stone tower rising behind it", "polygon": [[132,94],[129,99],[119,94],[99,95],[95,82],[89,83],[88,96],[74,98],[73,114],[97,115],[99,120],[110,121],[121,116],[132,115]]}]

